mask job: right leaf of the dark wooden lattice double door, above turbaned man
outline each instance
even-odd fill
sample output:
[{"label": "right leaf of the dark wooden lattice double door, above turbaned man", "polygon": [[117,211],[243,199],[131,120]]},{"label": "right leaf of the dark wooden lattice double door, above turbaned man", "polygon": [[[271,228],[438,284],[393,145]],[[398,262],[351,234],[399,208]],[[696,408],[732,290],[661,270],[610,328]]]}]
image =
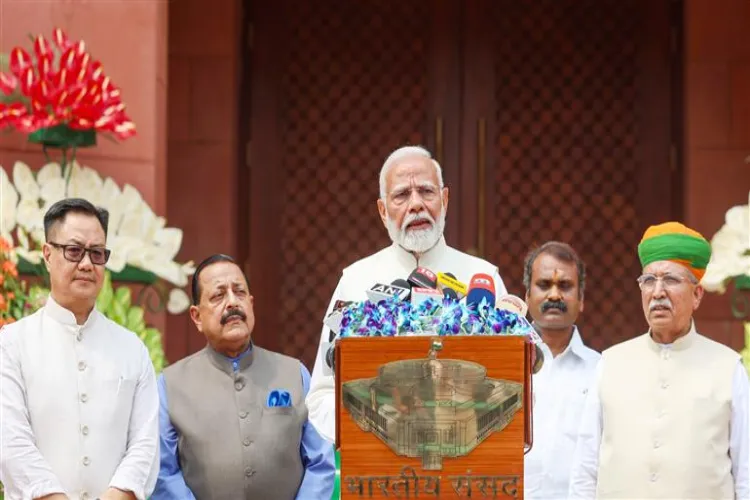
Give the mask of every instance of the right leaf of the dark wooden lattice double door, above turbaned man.
[{"label": "right leaf of the dark wooden lattice double door, above turbaned man", "polygon": [[526,252],[568,242],[588,267],[584,339],[642,333],[636,247],[679,198],[675,2],[465,5],[464,244],[523,297]]}]

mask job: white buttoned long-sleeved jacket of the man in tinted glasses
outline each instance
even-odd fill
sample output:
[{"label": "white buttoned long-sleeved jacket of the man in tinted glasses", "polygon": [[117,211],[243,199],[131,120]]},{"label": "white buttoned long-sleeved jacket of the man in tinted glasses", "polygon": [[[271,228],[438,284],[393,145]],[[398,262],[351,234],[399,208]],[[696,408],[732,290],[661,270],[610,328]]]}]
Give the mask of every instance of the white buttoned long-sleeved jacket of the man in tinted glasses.
[{"label": "white buttoned long-sleeved jacket of the man in tinted glasses", "polygon": [[146,346],[51,297],[0,331],[0,481],[6,500],[108,488],[142,500],[159,470],[159,397]]}]

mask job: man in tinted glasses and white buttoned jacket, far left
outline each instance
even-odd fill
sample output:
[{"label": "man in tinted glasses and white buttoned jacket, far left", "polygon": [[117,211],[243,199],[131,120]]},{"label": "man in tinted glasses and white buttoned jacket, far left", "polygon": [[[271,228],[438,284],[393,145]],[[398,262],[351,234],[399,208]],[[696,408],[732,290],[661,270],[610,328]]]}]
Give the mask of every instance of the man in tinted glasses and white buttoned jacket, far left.
[{"label": "man in tinted glasses and white buttoned jacket, far left", "polygon": [[50,295],[0,331],[0,481],[5,498],[149,497],[159,398],[146,346],[96,310],[109,214],[64,199],[44,216]]}]

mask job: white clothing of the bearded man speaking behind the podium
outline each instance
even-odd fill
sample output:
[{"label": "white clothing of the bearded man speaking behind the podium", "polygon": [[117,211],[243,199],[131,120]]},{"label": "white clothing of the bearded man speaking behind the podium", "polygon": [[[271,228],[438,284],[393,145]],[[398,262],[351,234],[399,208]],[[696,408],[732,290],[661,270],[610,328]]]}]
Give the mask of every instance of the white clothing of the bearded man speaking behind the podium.
[{"label": "white clothing of the bearded man speaking behind the podium", "polygon": [[[426,267],[434,273],[452,273],[459,281],[467,285],[474,274],[489,274],[495,281],[495,296],[507,293],[496,266],[449,247],[445,239],[441,237],[440,241],[425,252],[419,261],[410,252],[393,244],[345,268],[323,318],[331,312],[337,300],[367,300],[366,291],[372,285],[389,284],[399,278],[406,279],[418,266]],[[306,402],[310,421],[324,438],[334,442],[336,439],[335,383],[333,373],[325,362],[329,345],[330,329],[323,326],[318,356],[315,358],[313,367],[310,393]]]}]

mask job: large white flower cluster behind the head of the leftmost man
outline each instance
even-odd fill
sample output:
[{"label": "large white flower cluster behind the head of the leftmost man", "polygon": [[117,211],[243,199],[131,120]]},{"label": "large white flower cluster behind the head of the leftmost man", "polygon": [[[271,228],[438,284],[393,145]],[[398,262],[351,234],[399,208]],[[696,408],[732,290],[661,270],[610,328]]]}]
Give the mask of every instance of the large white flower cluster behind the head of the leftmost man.
[{"label": "large white flower cluster behind the head of the leftmost man", "polygon": [[[61,199],[79,197],[109,211],[107,246],[112,255],[108,270],[118,273],[130,265],[177,287],[186,286],[195,271],[192,261],[174,260],[182,246],[182,230],[167,227],[166,219],[155,214],[129,184],[120,188],[112,178],[103,179],[96,170],[75,160],[65,168],[47,163],[36,173],[27,164],[16,162],[12,180],[0,166],[0,235],[13,241],[16,230],[17,253],[32,264],[42,261],[41,252],[31,249],[44,242],[44,213]],[[183,312],[188,305],[183,290],[172,290],[170,312]]]}]

